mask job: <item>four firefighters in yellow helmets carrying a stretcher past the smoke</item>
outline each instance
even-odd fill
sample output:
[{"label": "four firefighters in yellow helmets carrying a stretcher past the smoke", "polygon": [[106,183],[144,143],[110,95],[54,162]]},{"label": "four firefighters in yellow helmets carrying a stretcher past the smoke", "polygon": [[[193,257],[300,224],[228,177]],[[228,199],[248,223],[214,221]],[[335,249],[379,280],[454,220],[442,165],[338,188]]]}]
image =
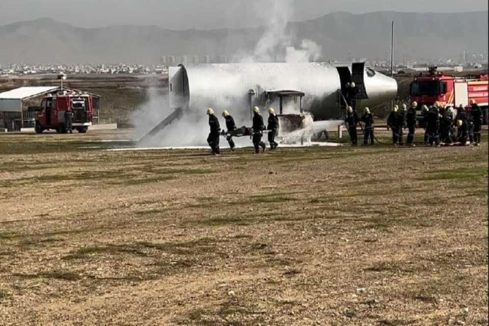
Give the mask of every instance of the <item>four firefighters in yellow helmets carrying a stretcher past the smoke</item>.
[{"label": "four firefighters in yellow helmets carrying a stretcher past the smoke", "polygon": [[[279,118],[275,114],[275,109],[273,107],[270,107],[268,109],[268,114],[269,116],[268,116],[268,127],[267,127],[265,126],[263,117],[260,114],[260,108],[258,106],[255,106],[253,108],[252,140],[253,140],[253,146],[255,148],[256,154],[260,153],[260,147],[263,152],[266,150],[266,145],[261,140],[263,137],[263,132],[265,130],[268,130],[268,143],[270,144],[270,150],[275,150],[279,146],[279,144],[275,141],[275,138],[277,137],[277,130],[279,128]],[[226,140],[229,143],[229,147],[231,148],[231,151],[234,151],[236,149],[236,144],[234,144],[233,141],[233,131],[237,130],[237,126],[234,121],[234,118],[229,114],[228,111],[226,110],[223,111],[222,116],[226,120],[227,131],[223,130],[221,132],[221,125],[219,123],[219,119],[218,117],[215,116],[214,109],[212,107],[209,107],[207,109],[207,115],[209,116],[209,127],[210,127],[209,137],[207,138],[207,144],[209,144],[210,148],[212,149],[212,154],[213,155],[221,154],[221,149],[219,148],[219,139],[221,135],[226,135]]]}]

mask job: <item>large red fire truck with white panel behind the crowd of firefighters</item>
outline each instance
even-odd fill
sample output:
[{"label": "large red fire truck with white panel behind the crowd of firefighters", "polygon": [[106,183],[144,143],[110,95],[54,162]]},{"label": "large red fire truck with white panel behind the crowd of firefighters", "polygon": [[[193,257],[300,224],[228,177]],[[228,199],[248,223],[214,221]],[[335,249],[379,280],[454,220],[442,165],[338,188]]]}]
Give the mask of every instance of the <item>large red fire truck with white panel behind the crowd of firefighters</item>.
[{"label": "large red fire truck with white panel behind the crowd of firefighters", "polygon": [[487,75],[455,77],[437,72],[436,67],[429,69],[426,75],[416,77],[411,83],[411,101],[418,102],[418,121],[423,126],[423,105],[433,105],[439,101],[443,107],[452,106],[455,109],[460,105],[470,106],[475,100],[484,113],[484,123],[487,123],[488,96]]}]

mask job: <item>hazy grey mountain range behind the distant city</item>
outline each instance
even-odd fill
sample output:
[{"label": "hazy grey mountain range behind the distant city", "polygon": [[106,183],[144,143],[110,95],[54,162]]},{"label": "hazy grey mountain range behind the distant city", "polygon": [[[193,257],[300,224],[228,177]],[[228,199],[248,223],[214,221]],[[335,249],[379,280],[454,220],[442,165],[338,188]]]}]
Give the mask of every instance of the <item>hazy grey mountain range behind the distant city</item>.
[{"label": "hazy grey mountain range behind the distant city", "polygon": [[[324,59],[385,58],[395,21],[397,59],[458,58],[487,52],[488,12],[331,13],[284,26],[289,41],[321,46]],[[253,53],[268,28],[172,31],[158,26],[81,28],[49,18],[0,26],[0,63],[160,63],[166,55]]]}]

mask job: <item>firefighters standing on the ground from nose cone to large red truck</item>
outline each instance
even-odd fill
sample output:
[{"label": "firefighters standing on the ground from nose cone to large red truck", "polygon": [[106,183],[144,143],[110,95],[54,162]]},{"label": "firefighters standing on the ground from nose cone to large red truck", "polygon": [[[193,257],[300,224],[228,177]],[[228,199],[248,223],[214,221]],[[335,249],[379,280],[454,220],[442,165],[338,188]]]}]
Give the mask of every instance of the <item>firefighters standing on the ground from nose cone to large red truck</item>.
[{"label": "firefighters standing on the ground from nose cone to large red truck", "polygon": [[[417,126],[417,108],[418,103],[413,102],[408,108],[406,104],[402,104],[402,111],[398,105],[394,105],[389,118],[387,119],[387,128],[392,130],[392,143],[395,146],[404,145],[403,131],[408,129],[407,146],[416,146],[414,137]],[[442,107],[440,102],[435,102],[429,107],[422,106],[423,121],[424,121],[424,143],[430,146],[441,146],[444,144],[460,143],[479,146],[481,141],[481,130],[483,114],[479,105],[475,100],[471,100],[470,110],[467,110],[464,105],[460,104],[455,115],[453,107]],[[374,143],[374,122],[373,116],[368,107],[364,108],[364,115],[359,120],[356,111],[348,106],[345,118],[345,125],[348,128],[351,143],[357,146],[357,125],[359,122],[364,123],[364,146]],[[457,133],[455,133],[455,127]]]}]

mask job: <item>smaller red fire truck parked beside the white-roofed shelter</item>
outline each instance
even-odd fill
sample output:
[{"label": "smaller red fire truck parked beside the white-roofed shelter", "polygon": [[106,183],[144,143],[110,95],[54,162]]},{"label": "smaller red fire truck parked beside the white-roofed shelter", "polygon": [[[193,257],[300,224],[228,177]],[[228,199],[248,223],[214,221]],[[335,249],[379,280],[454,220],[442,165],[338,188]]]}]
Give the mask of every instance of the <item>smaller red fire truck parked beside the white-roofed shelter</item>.
[{"label": "smaller red fire truck parked beside the white-roofed shelter", "polygon": [[66,111],[73,113],[73,129],[80,133],[87,132],[92,125],[94,101],[98,101],[98,96],[79,91],[63,90],[48,94],[42,99],[40,106],[30,108],[37,112],[36,132],[52,129],[66,133]]}]

